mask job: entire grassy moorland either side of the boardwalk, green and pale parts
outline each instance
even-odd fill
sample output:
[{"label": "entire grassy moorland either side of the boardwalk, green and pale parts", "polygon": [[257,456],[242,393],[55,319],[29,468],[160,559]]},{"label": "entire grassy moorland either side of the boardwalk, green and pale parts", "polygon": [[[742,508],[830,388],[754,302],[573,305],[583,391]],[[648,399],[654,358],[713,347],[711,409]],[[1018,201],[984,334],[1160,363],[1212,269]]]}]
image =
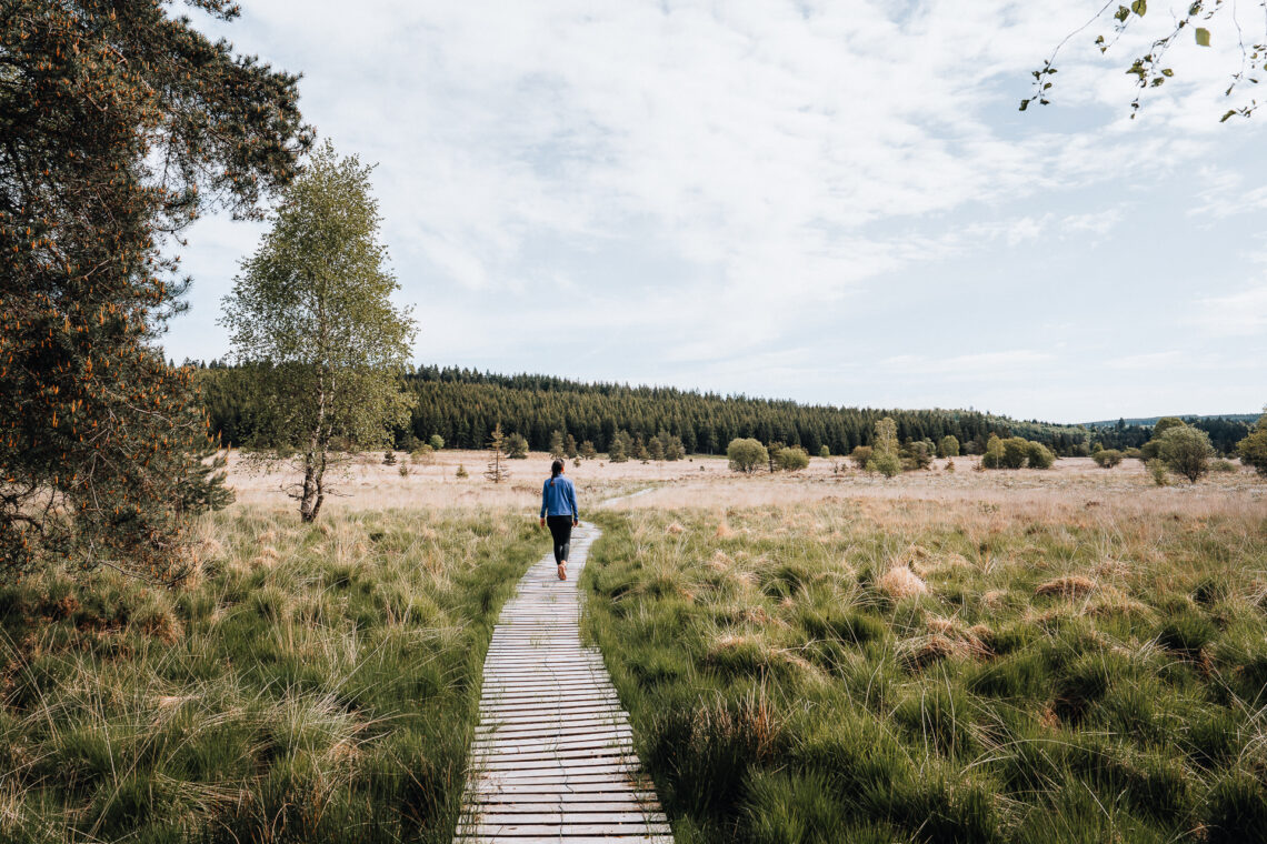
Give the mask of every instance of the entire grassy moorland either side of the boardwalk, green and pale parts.
[{"label": "entire grassy moorland either side of the boardwalk, green and pale parts", "polygon": [[[1267,483],[955,463],[569,463],[677,839],[1262,840]],[[490,626],[547,547],[549,457],[509,466],[361,456],[303,526],[234,456],[177,588],[5,587],[0,840],[447,840]]]}]

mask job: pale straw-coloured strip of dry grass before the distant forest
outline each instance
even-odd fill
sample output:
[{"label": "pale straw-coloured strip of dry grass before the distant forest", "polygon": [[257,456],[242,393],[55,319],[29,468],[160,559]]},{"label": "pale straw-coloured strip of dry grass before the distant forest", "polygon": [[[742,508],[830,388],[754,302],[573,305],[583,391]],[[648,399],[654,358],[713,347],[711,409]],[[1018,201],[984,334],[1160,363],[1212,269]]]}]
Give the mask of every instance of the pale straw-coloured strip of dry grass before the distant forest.
[{"label": "pale straw-coloured strip of dry grass before the distant forest", "polygon": [[[483,477],[485,452],[437,452],[427,463],[411,462],[403,452],[399,463],[408,464],[409,475],[400,467],[384,466],[381,454],[362,454],[350,461],[337,475],[338,496],[327,499],[331,510],[378,510],[383,507],[449,507],[497,506],[535,509],[540,505],[541,481],[550,475],[550,456],[531,452],[527,459],[508,461],[508,481],[494,485]],[[1237,464],[1232,473],[1215,473],[1196,486],[1186,482],[1159,488],[1153,485],[1139,461],[1126,461],[1114,469],[1102,469],[1090,458],[1064,458],[1052,469],[1017,469],[974,472],[974,457],[954,458],[955,471],[946,472],[946,461],[934,461],[934,469],[908,472],[886,480],[859,471],[844,458],[812,458],[810,467],[793,476],[758,475],[741,477],[727,468],[725,457],[693,456],[688,461],[640,463],[608,463],[603,459],[582,461],[579,467],[568,462],[568,477],[576,482],[582,506],[628,492],[654,487],[627,502],[614,506],[677,507],[756,506],[778,501],[820,501],[840,496],[879,499],[936,499],[950,501],[1034,501],[1045,504],[1067,500],[1085,504],[1092,499],[1139,497],[1142,506],[1152,507],[1167,501],[1206,501],[1224,506],[1228,496],[1237,500],[1262,501],[1267,483],[1251,469]],[[834,473],[832,466],[843,468]],[[455,477],[459,466],[470,475]],[[267,506],[286,506],[280,487],[300,475],[270,464],[266,471],[252,469],[238,452],[231,458],[231,485],[238,501]],[[1079,496],[1087,496],[1082,499]],[[1197,506],[1197,505],[1186,505]]]}]

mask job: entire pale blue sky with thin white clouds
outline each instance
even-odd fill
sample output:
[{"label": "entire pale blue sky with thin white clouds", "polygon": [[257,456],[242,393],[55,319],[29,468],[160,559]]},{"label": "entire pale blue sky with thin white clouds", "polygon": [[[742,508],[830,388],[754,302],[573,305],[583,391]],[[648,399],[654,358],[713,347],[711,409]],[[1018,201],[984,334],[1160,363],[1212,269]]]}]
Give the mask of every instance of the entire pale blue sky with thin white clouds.
[{"label": "entire pale blue sky with thin white clouds", "polygon": [[[1162,4],[1104,56],[1102,0],[243,6],[195,25],[376,163],[416,363],[1052,421],[1267,402],[1267,113],[1219,123],[1244,11],[1130,119]],[[171,357],[229,352],[262,230],[188,232]]]}]

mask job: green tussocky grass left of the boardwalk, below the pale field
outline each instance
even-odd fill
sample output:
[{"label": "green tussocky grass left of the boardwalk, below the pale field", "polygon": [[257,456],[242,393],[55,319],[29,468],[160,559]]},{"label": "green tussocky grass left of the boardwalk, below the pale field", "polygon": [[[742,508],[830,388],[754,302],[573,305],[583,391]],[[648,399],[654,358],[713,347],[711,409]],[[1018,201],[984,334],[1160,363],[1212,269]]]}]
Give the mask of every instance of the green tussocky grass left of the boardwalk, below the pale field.
[{"label": "green tussocky grass left of the boardwalk, below the pale field", "polygon": [[233,509],[200,534],[175,591],[0,590],[0,840],[450,840],[533,524]]}]

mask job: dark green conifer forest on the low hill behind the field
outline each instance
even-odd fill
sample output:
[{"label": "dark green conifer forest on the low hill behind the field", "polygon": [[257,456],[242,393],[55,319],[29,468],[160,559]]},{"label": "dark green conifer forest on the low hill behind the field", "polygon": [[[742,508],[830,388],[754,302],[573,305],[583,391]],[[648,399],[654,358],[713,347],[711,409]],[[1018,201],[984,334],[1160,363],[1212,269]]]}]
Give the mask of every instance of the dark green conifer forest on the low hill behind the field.
[{"label": "dark green conifer forest on the low hill behind the field", "polygon": [[[241,368],[201,367],[203,395],[212,428],[222,440],[251,443],[256,414],[246,405],[237,377]],[[964,450],[984,449],[991,434],[1024,437],[1057,454],[1087,453],[1087,430],[1081,426],[1021,421],[965,410],[881,410],[802,405],[794,401],[722,396],[673,387],[630,387],[582,383],[552,376],[494,375],[457,367],[422,366],[404,376],[413,399],[408,424],[395,430],[397,445],[427,442],[438,434],[450,448],[483,448],[500,423],[503,430],[527,439],[532,449],[547,450],[554,431],[576,442],[590,440],[599,452],[611,448],[618,431],[650,442],[661,431],[677,435],[689,453],[722,454],[732,439],[799,445],[818,454],[848,454],[870,445],[875,423],[891,416],[900,442],[946,435]]]}]

